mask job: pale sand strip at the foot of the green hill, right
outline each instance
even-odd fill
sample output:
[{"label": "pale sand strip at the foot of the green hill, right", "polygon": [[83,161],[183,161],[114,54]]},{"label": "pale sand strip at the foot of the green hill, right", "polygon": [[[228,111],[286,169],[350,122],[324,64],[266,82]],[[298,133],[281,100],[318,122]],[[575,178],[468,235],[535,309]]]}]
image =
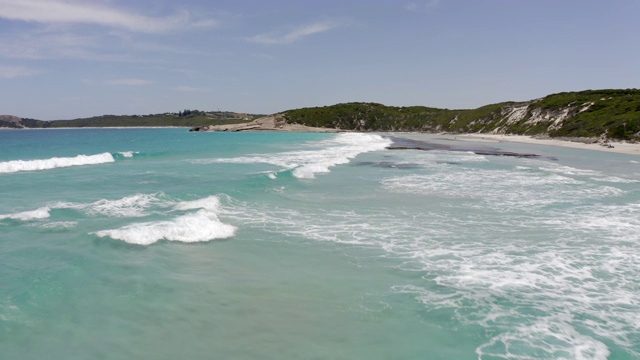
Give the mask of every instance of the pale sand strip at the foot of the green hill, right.
[{"label": "pale sand strip at the foot of the green hill, right", "polygon": [[640,144],[631,144],[626,142],[609,141],[613,147],[602,146],[598,143],[582,143],[576,141],[556,140],[556,139],[539,139],[523,135],[499,135],[499,134],[461,134],[446,135],[451,140],[474,141],[474,142],[516,142],[525,144],[539,144],[550,146],[561,146],[574,149],[606,151],[621,154],[640,155]]}]

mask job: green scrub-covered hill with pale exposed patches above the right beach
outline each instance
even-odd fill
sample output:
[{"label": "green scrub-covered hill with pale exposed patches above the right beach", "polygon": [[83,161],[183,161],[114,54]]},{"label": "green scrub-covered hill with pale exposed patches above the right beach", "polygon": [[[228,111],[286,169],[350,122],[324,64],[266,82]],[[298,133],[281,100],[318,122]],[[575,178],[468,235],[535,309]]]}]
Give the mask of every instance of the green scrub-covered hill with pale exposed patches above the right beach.
[{"label": "green scrub-covered hill with pale exposed patches above the right beach", "polygon": [[640,140],[640,90],[564,92],[477,109],[346,103],[284,112],[288,123],[357,131],[498,133]]}]

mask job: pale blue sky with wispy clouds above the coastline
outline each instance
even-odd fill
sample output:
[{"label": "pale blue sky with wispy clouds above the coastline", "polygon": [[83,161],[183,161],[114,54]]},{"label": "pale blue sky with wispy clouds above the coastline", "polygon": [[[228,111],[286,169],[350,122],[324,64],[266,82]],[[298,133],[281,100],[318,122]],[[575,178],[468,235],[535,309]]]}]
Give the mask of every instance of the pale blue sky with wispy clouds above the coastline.
[{"label": "pale blue sky with wispy clouds above the coastline", "polygon": [[0,0],[0,114],[476,108],[640,87],[640,0]]}]

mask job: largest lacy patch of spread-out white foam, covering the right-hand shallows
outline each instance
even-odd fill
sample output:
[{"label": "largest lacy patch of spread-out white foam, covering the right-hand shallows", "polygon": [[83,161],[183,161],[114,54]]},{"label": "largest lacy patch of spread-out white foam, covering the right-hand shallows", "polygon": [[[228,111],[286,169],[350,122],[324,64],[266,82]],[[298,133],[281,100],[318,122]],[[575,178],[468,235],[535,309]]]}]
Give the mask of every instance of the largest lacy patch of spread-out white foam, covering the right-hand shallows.
[{"label": "largest lacy patch of spread-out white foam, covering the right-hand shallows", "polygon": [[[452,323],[484,328],[479,359],[606,359],[611,344],[639,357],[640,204],[625,203],[627,192],[580,169],[570,170],[576,179],[537,167],[460,168],[428,167],[435,173],[383,181],[394,191],[429,195],[418,212],[234,200],[221,211],[278,239],[365,246],[400,259],[398,269],[420,280],[391,292],[450,313]],[[457,202],[431,212],[439,194]],[[475,209],[458,201],[467,199],[486,202]],[[545,206],[531,206],[537,201]],[[602,204],[610,202],[616,205]],[[501,208],[510,211],[493,216]]]}]

